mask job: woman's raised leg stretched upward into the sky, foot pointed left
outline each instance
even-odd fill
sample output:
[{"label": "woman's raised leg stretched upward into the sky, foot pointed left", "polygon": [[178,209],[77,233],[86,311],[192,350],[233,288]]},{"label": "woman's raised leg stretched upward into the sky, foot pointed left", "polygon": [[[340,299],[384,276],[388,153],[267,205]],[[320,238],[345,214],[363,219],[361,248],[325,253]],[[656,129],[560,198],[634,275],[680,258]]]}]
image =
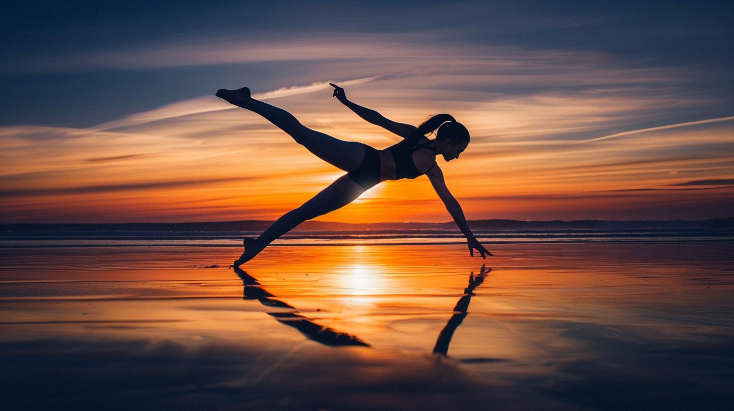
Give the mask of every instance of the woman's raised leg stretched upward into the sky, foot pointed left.
[{"label": "woman's raised leg stretched upward into the sky, foot pointed left", "polygon": [[265,117],[270,123],[290,134],[296,142],[311,153],[315,154],[344,171],[352,171],[359,167],[364,157],[364,145],[360,142],[346,142],[331,137],[320,131],[312,130],[302,125],[293,114],[279,109],[268,103],[250,97],[250,89],[242,87],[239,90],[219,90],[217,97],[235,106],[248,109]]}]

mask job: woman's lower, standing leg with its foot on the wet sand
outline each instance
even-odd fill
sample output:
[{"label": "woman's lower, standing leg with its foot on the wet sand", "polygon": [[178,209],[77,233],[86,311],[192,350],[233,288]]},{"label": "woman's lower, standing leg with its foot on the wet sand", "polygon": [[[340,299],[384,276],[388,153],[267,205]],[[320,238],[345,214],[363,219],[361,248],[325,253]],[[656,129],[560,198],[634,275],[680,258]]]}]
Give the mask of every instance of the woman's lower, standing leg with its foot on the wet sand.
[{"label": "woman's lower, standing leg with its foot on the wet sand", "polygon": [[234,262],[234,266],[239,267],[241,264],[250,261],[255,255],[258,255],[259,252],[267,247],[268,244],[275,241],[278,237],[283,236],[283,234],[288,233],[288,231],[293,230],[302,222],[342,208],[344,205],[356,200],[363,192],[365,192],[365,189],[362,186],[352,181],[346,175],[342,175],[299,208],[283,214],[283,217],[280,217],[272,223],[257,239],[244,239],[244,252]]}]

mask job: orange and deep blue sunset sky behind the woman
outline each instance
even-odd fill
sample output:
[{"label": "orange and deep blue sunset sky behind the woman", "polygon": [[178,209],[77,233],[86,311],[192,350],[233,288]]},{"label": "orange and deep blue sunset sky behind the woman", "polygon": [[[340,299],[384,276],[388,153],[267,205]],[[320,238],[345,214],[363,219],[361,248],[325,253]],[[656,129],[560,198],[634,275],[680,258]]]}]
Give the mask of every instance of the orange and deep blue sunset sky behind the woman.
[{"label": "orange and deep blue sunset sky behind the woman", "polygon": [[[0,223],[275,219],[343,172],[214,97],[250,87],[311,128],[469,148],[438,162],[468,219],[734,217],[725,1],[4,1]],[[425,176],[319,217],[445,222]]]}]

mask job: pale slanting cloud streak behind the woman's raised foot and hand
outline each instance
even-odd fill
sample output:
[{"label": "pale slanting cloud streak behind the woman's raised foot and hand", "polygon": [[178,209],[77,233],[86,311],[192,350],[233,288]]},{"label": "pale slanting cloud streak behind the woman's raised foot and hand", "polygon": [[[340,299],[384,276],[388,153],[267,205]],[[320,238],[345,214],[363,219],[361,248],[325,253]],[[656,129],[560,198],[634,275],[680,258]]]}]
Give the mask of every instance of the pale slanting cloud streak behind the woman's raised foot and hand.
[{"label": "pale slanting cloud streak behind the woman's raised foot and hand", "polygon": [[[344,86],[352,86],[355,84],[363,84],[368,81],[379,79],[380,77],[386,76],[385,74],[379,76],[365,77],[363,79],[353,79],[346,81],[339,81],[339,84]],[[324,90],[329,87],[330,81],[319,81],[308,86],[294,86],[294,87],[283,87],[277,90],[258,92],[252,95],[253,98],[258,100],[267,100],[269,98],[285,97],[286,95],[302,94],[305,92],[312,92],[317,90]],[[159,107],[157,109],[149,110],[148,112],[141,112],[129,115],[128,117],[121,118],[120,120],[113,120],[108,123],[103,123],[98,126],[87,128],[88,131],[107,131],[113,128],[123,128],[129,126],[138,126],[140,124],[152,123],[153,121],[166,120],[174,117],[183,117],[189,114],[199,114],[206,112],[218,112],[220,110],[233,109],[230,103],[223,101],[214,95],[207,95],[204,97],[191,98],[189,100],[178,101],[178,103],[167,104],[166,106]]]}]

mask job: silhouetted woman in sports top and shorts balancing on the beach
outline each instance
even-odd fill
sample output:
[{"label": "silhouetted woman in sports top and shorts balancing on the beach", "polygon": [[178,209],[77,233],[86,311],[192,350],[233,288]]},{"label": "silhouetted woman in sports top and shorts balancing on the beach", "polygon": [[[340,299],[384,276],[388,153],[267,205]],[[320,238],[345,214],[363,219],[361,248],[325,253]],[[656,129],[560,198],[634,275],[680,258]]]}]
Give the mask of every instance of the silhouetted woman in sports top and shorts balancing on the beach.
[{"label": "silhouetted woman in sports top and shorts balancing on the beach", "polygon": [[[470,255],[474,255],[474,250],[479,251],[482,258],[484,255],[492,255],[474,238],[466,223],[461,205],[446,188],[443,172],[436,163],[436,156],[439,154],[446,161],[459,158],[459,154],[469,144],[467,129],[448,114],[437,114],[418,127],[396,123],[374,110],[352,103],[346,99],[343,88],[335,84],[332,86],[335,89],[333,96],[341,103],[369,123],[403,137],[402,141],[384,150],[377,150],[360,142],[346,142],[311,130],[285,110],[251,98],[250,89],[247,87],[239,90],[217,91],[217,97],[260,114],[290,134],[297,143],[303,145],[319,159],[347,172],[346,175],[338,178],[299,208],[288,211],[283,217],[277,219],[257,239],[244,239],[244,252],[234,262],[234,266],[237,267],[250,261],[268,244],[300,223],[352,203],[360,194],[381,181],[416,178],[424,174],[428,175],[438,197],[446,205],[449,214],[454,217],[454,221],[466,236]],[[428,139],[426,134],[433,131],[436,131],[436,138]]]}]

